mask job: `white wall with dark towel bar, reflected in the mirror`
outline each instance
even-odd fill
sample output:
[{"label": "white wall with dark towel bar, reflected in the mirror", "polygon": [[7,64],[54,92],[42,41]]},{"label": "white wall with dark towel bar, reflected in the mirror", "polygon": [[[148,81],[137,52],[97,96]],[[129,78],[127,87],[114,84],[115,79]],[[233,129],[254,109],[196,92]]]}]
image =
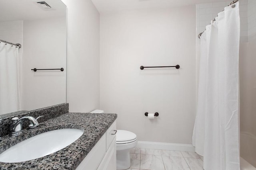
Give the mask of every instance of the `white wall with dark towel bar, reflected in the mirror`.
[{"label": "white wall with dark towel bar, reflected in the mirror", "polygon": [[66,17],[24,21],[22,49],[22,110],[65,103]]}]

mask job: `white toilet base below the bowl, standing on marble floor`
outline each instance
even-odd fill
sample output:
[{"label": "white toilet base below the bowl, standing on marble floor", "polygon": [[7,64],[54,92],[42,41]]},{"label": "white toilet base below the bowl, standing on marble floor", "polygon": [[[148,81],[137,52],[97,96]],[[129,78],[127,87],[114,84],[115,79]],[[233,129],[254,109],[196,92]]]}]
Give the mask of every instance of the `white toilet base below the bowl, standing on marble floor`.
[{"label": "white toilet base below the bowl, standing on marble floor", "polygon": [[126,170],[131,166],[130,149],[116,150],[116,169]]}]

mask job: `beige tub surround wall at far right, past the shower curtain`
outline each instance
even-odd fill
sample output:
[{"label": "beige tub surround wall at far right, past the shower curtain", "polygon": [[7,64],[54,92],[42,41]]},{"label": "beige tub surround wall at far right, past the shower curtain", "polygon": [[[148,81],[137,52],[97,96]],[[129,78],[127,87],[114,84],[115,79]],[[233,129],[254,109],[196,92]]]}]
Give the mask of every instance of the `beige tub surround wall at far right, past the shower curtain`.
[{"label": "beige tub surround wall at far right, past the shower curtain", "polygon": [[256,41],[240,44],[240,155],[256,167]]}]

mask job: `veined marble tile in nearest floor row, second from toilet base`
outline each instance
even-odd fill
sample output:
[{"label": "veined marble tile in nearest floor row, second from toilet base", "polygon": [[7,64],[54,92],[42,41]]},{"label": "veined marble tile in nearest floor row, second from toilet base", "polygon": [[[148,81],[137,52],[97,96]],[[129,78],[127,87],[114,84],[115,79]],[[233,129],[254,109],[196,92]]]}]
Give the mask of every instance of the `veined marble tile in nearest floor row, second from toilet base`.
[{"label": "veined marble tile in nearest floor row, second from toilet base", "polygon": [[141,154],[140,168],[145,170],[164,170],[162,156]]}]

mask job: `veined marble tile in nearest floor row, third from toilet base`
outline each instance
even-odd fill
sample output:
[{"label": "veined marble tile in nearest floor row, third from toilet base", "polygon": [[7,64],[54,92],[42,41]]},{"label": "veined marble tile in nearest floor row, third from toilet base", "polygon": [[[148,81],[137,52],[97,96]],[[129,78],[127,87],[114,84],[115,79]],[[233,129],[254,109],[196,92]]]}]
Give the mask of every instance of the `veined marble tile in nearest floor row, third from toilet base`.
[{"label": "veined marble tile in nearest floor row, third from toilet base", "polygon": [[165,170],[190,170],[186,160],[182,157],[162,156]]}]

